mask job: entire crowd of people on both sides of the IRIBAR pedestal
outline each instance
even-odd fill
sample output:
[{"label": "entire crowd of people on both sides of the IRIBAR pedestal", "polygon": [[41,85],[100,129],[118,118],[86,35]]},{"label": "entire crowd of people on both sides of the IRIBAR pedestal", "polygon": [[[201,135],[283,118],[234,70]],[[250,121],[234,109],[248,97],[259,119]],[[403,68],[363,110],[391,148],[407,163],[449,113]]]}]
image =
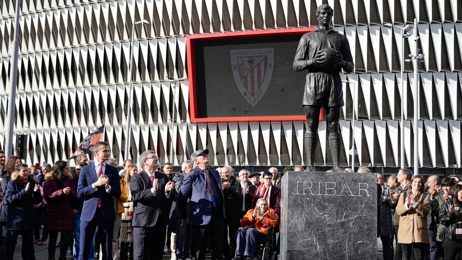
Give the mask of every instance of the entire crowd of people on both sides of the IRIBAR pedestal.
[{"label": "entire crowd of people on both sides of the IRIBAR pedestal", "polygon": [[[48,259],[160,260],[167,245],[171,260],[252,260],[280,218],[278,169],[237,177],[226,165],[209,165],[208,150],[197,150],[175,176],[155,152],[138,165],[109,158],[109,144],[93,147],[94,161],[77,156],[29,167],[0,151],[0,258],[12,260],[21,235],[23,259],[35,260],[33,244],[48,241]],[[302,166],[286,167],[303,171]],[[332,172],[349,172],[334,168]],[[359,173],[370,172],[359,167]],[[462,255],[462,180],[456,175],[424,180],[400,169],[386,180],[377,174],[377,236],[384,260],[460,260]],[[43,229],[42,229],[43,227]],[[41,232],[42,231],[42,232]],[[58,235],[60,234],[60,240]]]}]

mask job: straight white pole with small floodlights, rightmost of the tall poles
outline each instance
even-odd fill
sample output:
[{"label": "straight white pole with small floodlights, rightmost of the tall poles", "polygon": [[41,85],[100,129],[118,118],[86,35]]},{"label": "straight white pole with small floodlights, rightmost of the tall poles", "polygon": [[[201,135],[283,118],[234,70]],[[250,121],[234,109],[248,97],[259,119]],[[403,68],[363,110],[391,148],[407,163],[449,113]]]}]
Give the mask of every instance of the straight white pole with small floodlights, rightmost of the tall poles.
[{"label": "straight white pole with small floodlights, rightmost of the tall poles", "polygon": [[415,56],[414,61],[414,175],[419,174],[419,60],[417,19],[414,19]]}]

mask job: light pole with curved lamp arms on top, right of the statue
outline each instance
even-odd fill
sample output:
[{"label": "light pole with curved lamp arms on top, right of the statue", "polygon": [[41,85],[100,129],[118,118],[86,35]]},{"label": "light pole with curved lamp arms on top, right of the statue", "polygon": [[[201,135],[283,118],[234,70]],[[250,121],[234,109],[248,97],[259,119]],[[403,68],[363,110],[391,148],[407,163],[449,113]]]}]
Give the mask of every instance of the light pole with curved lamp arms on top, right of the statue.
[{"label": "light pole with curved lamp arms on top, right of the statue", "polygon": [[401,168],[405,167],[406,157],[404,155],[404,38],[410,36],[407,32],[412,29],[412,26],[406,25],[403,27],[398,27],[392,24],[384,24],[383,26],[388,28],[396,28],[401,30],[401,128],[400,128],[400,141],[401,141]]}]

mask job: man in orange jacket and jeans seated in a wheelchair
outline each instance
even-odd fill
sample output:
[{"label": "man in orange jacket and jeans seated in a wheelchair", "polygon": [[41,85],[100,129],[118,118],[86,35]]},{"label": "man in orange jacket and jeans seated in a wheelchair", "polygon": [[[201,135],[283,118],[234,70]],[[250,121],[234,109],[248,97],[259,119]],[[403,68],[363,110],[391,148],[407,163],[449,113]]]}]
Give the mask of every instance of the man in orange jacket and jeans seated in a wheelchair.
[{"label": "man in orange jacket and jeans seated in a wheelchair", "polygon": [[243,227],[237,229],[237,256],[233,260],[252,260],[255,248],[267,240],[267,229],[274,229],[278,218],[273,209],[268,208],[265,198],[259,198],[256,207],[247,211],[241,219]]}]

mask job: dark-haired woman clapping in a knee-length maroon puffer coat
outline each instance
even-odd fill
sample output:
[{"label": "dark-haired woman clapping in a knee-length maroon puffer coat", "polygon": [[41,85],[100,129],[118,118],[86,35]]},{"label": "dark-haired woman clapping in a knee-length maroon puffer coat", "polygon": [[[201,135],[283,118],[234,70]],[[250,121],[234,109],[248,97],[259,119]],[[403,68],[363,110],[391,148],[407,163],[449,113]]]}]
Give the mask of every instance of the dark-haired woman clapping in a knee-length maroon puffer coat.
[{"label": "dark-haired woman clapping in a knee-length maroon puffer coat", "polygon": [[74,230],[73,202],[77,199],[70,167],[66,161],[56,161],[45,175],[43,195],[47,201],[44,227],[49,232],[48,259],[55,259],[56,240],[61,232],[60,260],[66,259],[69,236]]}]

